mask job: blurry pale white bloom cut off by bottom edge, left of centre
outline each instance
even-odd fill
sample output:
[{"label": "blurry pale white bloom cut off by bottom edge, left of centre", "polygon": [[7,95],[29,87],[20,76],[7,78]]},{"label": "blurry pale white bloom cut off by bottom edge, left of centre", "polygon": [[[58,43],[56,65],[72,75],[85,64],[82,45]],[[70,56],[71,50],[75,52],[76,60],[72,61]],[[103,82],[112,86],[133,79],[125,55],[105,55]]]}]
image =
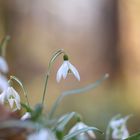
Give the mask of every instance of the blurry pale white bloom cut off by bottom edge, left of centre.
[{"label": "blurry pale white bloom cut off by bottom edge, left of centre", "polygon": [[27,140],[56,140],[56,138],[50,130],[42,129],[29,135]]}]

